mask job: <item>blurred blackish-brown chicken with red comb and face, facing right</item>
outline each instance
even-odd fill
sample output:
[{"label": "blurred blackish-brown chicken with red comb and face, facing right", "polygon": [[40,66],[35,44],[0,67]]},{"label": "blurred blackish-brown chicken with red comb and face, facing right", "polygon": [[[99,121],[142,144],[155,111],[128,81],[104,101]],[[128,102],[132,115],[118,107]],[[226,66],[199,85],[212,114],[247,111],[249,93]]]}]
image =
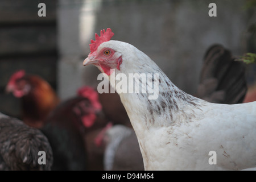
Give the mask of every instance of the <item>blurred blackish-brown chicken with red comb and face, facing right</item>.
[{"label": "blurred blackish-brown chicken with red comb and face, facing right", "polygon": [[79,89],[78,96],[57,106],[42,128],[52,146],[52,170],[102,169],[102,163],[95,165],[88,159],[93,154],[85,138],[106,123],[98,94],[90,87]]}]

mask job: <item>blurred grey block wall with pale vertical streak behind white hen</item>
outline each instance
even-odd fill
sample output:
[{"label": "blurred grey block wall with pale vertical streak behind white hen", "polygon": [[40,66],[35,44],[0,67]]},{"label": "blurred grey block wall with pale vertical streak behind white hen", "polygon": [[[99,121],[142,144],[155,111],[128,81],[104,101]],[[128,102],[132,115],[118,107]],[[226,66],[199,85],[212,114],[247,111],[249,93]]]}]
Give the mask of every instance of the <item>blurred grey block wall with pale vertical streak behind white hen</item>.
[{"label": "blurred grey block wall with pale vertical streak behind white hen", "polygon": [[[216,17],[208,15],[210,2],[217,5]],[[139,48],[179,88],[193,94],[209,46],[222,44],[233,55],[256,51],[255,33],[248,31],[256,14],[243,8],[245,2],[59,0],[60,96],[71,96],[83,84],[97,85],[100,72],[93,66],[82,67],[82,61],[94,33],[108,27],[115,34],[112,39]]]}]

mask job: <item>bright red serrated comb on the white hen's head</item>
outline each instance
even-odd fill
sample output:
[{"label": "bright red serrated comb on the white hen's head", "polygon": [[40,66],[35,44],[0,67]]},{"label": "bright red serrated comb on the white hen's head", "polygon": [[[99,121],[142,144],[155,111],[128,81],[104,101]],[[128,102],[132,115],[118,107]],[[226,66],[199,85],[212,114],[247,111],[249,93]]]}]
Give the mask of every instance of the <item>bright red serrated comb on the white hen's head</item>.
[{"label": "bright red serrated comb on the white hen's head", "polygon": [[98,34],[95,34],[95,40],[90,40],[90,43],[91,43],[90,53],[93,53],[94,51],[96,51],[98,46],[100,46],[101,43],[108,42],[113,35],[114,33],[110,28],[107,28],[106,31],[104,29],[103,31],[101,30],[101,36],[98,36]]}]

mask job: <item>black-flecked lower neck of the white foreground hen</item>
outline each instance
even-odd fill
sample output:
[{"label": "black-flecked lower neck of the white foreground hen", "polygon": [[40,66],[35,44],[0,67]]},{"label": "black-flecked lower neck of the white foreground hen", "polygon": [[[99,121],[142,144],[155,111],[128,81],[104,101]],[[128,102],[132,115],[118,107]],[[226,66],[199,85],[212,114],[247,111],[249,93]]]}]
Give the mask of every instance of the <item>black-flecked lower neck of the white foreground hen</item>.
[{"label": "black-flecked lower neck of the white foreground hen", "polygon": [[146,70],[158,73],[159,79],[147,79],[146,83],[140,80],[141,85],[146,87],[158,81],[158,98],[149,100],[149,93],[119,93],[133,127],[144,130],[188,122],[194,116],[193,110],[200,109],[203,101],[177,88],[153,61]]}]

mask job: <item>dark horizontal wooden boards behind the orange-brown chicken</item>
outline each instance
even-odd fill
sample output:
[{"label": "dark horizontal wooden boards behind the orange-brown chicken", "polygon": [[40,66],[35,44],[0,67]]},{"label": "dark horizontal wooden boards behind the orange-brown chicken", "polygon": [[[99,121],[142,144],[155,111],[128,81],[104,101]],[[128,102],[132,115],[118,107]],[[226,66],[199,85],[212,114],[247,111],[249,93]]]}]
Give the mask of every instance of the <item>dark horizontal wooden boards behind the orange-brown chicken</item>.
[{"label": "dark horizontal wooden boards behind the orange-brown chicken", "polygon": [[[46,17],[38,4],[46,3]],[[19,117],[19,99],[5,93],[18,69],[45,78],[56,88],[56,1],[0,1],[0,112]]]}]

